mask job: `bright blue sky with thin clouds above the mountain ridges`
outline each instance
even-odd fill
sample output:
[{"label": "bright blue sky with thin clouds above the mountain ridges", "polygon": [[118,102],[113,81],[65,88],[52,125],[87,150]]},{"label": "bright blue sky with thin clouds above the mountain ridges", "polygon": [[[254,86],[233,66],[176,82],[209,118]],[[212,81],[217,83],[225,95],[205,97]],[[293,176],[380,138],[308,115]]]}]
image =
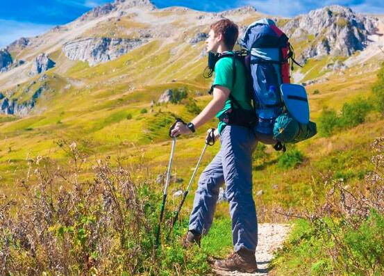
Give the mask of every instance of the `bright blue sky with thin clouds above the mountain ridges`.
[{"label": "bright blue sky with thin clouds above the mountain ridges", "polygon": [[[0,48],[21,37],[32,37],[66,24],[95,6],[113,0],[0,0]],[[129,1],[129,0],[127,0]],[[358,13],[384,14],[383,0],[152,0],[158,8],[185,6],[220,12],[254,6],[261,13],[294,17],[323,6],[348,6]]]}]

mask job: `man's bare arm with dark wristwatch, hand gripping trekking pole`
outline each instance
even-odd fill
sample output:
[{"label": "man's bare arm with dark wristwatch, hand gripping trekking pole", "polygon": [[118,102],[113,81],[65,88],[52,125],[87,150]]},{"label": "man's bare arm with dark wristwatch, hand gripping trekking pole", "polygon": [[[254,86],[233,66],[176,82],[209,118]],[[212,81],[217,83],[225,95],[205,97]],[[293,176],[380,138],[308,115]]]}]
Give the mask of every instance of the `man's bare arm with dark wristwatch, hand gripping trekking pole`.
[{"label": "man's bare arm with dark wristwatch, hand gripping trekking pole", "polygon": [[[230,92],[231,90],[224,86],[215,86],[215,88],[213,88],[213,99],[207,104],[203,111],[191,121],[194,124],[195,129],[211,120],[224,108],[224,104],[226,103],[226,99],[228,99]],[[191,133],[190,129],[188,129],[185,124],[179,122],[172,130],[171,135],[178,136],[179,134],[187,133]]]}]

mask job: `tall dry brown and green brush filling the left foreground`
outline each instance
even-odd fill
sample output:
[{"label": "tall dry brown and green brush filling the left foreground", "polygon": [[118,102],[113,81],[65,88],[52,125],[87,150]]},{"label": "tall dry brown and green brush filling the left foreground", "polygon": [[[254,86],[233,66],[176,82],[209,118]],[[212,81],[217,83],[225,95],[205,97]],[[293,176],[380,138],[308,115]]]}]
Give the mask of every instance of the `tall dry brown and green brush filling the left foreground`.
[{"label": "tall dry brown and green brush filling the left foreground", "polygon": [[[81,181],[88,156],[76,143],[58,145],[72,156],[69,165],[62,168],[39,156],[28,162],[25,200],[17,204],[0,194],[0,275],[210,273],[206,252],[183,250],[173,239],[167,244],[167,227],[156,250],[161,195],[150,181],[135,183],[126,168],[120,163],[112,168],[108,158],[92,165],[92,180]],[[171,216],[166,210],[165,218]],[[174,235],[179,239],[185,231],[176,227]]]}]

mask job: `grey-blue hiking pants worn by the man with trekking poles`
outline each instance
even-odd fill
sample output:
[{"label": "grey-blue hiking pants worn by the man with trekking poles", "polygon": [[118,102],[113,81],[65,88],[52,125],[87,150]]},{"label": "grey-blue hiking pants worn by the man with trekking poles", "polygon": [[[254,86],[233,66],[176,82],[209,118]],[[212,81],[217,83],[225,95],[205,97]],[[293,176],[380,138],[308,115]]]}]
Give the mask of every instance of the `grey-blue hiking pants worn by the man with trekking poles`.
[{"label": "grey-blue hiking pants worn by the man with trekking poles", "polygon": [[251,155],[256,147],[256,138],[250,129],[226,126],[220,143],[220,151],[200,176],[189,229],[202,234],[208,232],[219,188],[225,183],[232,218],[233,248],[235,252],[241,248],[255,251],[258,225],[252,197]]}]

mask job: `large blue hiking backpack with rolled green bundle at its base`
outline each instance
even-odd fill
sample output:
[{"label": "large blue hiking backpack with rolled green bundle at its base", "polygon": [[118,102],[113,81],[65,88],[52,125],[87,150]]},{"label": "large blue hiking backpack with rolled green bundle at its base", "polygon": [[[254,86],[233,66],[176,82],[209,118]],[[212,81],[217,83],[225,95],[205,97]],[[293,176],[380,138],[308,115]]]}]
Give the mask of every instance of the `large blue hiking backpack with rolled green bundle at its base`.
[{"label": "large blue hiking backpack with rolled green bundle at its base", "polygon": [[253,108],[258,118],[256,135],[274,138],[274,148],[283,151],[285,143],[297,143],[317,133],[316,124],[309,121],[305,88],[285,85],[290,83],[293,63],[299,65],[288,40],[271,19],[249,25],[240,40],[248,53],[245,64],[251,75]]}]

